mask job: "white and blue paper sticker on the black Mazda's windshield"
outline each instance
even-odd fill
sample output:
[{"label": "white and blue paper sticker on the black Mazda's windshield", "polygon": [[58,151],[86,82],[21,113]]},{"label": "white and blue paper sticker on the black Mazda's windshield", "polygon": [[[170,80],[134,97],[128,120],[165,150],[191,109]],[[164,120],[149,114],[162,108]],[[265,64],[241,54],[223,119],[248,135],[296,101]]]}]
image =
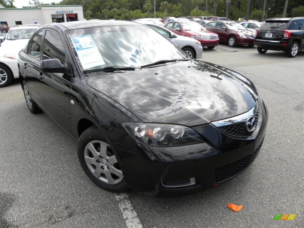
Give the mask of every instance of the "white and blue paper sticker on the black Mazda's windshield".
[{"label": "white and blue paper sticker on the black Mazda's windshield", "polygon": [[72,36],[71,39],[84,70],[105,64],[91,35]]}]

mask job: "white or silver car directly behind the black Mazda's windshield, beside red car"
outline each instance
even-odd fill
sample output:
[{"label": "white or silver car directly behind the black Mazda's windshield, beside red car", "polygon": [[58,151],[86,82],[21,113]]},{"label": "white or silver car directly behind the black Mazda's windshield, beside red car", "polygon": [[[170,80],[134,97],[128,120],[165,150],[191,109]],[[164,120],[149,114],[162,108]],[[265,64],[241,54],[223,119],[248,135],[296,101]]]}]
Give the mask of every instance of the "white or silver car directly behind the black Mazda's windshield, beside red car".
[{"label": "white or silver car directly behind the black Mazda's windshield, beside red car", "polygon": [[188,56],[199,59],[202,58],[203,55],[203,47],[201,43],[193,38],[187,36],[180,36],[169,29],[166,29],[161,26],[151,25],[144,23],[145,25],[149,26],[150,28],[154,29],[161,35],[165,36],[168,40],[172,43],[178,45],[178,47],[183,50]]}]

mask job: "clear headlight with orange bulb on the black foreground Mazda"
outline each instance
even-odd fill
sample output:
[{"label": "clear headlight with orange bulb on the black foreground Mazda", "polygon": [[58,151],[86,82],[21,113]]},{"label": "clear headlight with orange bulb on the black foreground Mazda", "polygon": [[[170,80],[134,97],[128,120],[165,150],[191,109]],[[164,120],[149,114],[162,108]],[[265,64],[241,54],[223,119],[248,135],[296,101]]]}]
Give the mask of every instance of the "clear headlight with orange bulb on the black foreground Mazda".
[{"label": "clear headlight with orange bulb on the black foreground Mazda", "polygon": [[135,140],[156,147],[204,142],[195,130],[181,125],[123,123],[123,127]]}]

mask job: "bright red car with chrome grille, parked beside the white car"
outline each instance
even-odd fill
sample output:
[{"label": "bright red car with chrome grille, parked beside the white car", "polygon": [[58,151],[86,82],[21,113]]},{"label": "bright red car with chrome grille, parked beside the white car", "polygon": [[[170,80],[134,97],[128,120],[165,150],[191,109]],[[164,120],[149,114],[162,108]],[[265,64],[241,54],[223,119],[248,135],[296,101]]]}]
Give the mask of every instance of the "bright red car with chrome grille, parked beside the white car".
[{"label": "bright red car with chrome grille, parked beside the white car", "polygon": [[198,40],[203,47],[212,49],[219,45],[219,36],[216,33],[207,31],[197,22],[170,21],[165,27],[178,35],[188,36]]}]

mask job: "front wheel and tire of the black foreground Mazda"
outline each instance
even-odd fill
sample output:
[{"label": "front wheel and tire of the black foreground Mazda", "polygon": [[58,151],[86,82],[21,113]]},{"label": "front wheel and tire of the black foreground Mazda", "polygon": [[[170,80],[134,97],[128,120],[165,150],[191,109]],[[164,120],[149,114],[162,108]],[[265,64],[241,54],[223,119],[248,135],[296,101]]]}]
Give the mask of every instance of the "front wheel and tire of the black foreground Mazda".
[{"label": "front wheel and tire of the black foreground Mazda", "polygon": [[117,158],[96,126],[81,134],[77,153],[83,171],[96,185],[111,192],[127,189]]}]

